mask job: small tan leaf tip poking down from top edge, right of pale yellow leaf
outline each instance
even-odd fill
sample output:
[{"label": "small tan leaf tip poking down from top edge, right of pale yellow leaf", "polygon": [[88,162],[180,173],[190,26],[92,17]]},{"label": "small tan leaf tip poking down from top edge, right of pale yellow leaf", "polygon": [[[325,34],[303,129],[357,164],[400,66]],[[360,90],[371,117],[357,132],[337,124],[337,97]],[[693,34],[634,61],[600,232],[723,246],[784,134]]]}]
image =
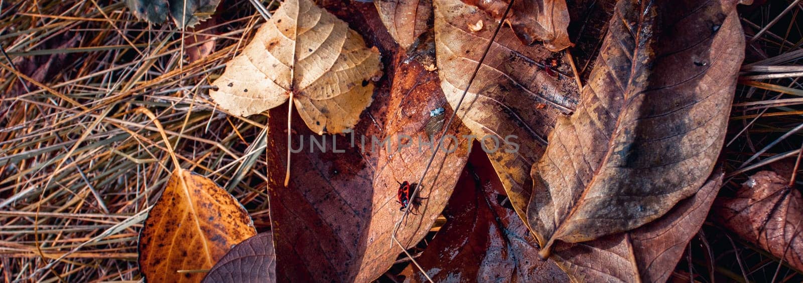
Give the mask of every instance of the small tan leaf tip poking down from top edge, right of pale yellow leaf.
[{"label": "small tan leaf tip poking down from top edge, right of pale yellow leaf", "polygon": [[407,49],[427,29],[432,0],[376,0],[379,18],[399,46]]}]

